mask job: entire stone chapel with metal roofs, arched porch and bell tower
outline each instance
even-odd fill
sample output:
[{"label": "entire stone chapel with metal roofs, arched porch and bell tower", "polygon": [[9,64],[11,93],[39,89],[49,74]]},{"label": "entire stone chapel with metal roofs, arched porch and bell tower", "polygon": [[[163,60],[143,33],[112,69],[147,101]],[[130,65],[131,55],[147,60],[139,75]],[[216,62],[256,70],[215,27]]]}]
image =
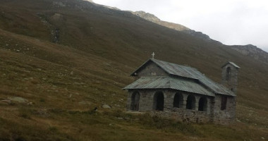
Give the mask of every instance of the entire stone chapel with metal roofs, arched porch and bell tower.
[{"label": "entire stone chapel with metal roofs, arched porch and bell tower", "polygon": [[227,62],[221,84],[189,66],[149,59],[131,76],[127,111],[201,123],[229,123],[236,117],[239,66]]}]

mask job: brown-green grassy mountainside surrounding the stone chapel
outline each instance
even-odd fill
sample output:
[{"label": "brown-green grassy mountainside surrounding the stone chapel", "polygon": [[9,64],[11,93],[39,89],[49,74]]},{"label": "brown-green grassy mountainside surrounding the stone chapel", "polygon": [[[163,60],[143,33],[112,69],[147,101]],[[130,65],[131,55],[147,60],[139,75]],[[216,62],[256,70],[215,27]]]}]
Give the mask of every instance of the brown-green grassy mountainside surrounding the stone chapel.
[{"label": "brown-green grassy mountainside surrounding the stone chapel", "polygon": [[[200,125],[126,113],[121,88],[152,51],[217,82],[226,61],[237,63],[238,121]],[[28,100],[0,102],[0,140],[268,139],[267,64],[131,13],[80,0],[2,0],[0,66],[0,100]]]}]

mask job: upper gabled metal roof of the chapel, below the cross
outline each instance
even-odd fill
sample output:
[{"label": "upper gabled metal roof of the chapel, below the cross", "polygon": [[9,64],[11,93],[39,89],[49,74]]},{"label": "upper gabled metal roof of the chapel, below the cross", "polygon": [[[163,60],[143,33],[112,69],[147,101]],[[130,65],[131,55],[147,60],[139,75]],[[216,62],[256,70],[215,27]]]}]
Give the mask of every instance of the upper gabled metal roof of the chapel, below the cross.
[{"label": "upper gabled metal roof of the chapel, below the cross", "polygon": [[[231,92],[231,90],[227,89],[223,85],[218,84],[217,82],[210,80],[205,75],[200,73],[200,71],[197,71],[197,69],[195,68],[191,68],[189,66],[181,66],[181,65],[178,65],[175,63],[169,63],[166,61],[159,61],[157,59],[149,59],[142,66],[140,66],[136,71],[134,71],[131,75],[134,75],[135,73],[142,70],[142,68],[146,66],[146,64],[149,62],[156,63],[157,66],[162,68],[169,75],[181,76],[183,78],[190,78],[193,80],[197,80],[200,83],[202,83],[202,85],[205,85],[210,90],[212,90],[212,92],[214,93],[236,96],[236,94]],[[197,84],[197,85],[200,85],[200,84]]]}]

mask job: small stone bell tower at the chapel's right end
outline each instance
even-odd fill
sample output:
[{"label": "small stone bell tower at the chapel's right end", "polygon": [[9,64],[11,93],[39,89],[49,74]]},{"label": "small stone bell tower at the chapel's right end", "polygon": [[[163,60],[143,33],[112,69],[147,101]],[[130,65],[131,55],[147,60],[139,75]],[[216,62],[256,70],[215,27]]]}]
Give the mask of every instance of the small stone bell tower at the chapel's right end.
[{"label": "small stone bell tower at the chapel's right end", "polygon": [[240,67],[237,66],[236,63],[227,62],[221,68],[221,84],[236,94],[236,87],[238,85],[238,70]]}]

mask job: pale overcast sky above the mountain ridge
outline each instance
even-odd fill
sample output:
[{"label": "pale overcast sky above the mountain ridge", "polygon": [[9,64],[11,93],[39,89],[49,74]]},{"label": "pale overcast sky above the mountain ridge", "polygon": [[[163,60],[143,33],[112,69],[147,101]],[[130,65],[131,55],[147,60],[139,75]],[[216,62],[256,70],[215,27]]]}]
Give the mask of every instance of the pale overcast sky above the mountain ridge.
[{"label": "pale overcast sky above the mountain ridge", "polygon": [[145,11],[185,25],[227,45],[253,44],[268,51],[267,0],[93,0],[121,10]]}]

